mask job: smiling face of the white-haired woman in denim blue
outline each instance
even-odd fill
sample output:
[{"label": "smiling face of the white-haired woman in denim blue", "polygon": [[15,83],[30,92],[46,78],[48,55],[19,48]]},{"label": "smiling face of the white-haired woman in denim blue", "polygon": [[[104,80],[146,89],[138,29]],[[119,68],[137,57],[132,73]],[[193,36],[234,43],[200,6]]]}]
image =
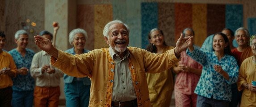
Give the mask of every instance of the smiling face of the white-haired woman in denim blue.
[{"label": "smiling face of the white-haired woman in denim blue", "polygon": [[84,49],[85,45],[85,37],[82,33],[76,33],[74,36],[74,40],[71,42],[72,45],[74,45],[75,49]]}]

